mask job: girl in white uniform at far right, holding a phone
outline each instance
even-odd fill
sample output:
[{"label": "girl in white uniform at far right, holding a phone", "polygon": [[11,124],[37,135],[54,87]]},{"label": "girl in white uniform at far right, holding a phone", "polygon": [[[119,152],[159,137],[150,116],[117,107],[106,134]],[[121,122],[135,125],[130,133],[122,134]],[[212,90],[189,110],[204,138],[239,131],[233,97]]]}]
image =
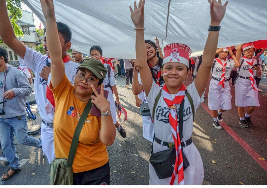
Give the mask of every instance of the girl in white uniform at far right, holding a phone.
[{"label": "girl in white uniform at far right, holding a phone", "polygon": [[[242,57],[242,48],[244,56]],[[235,105],[238,106],[238,114],[240,117],[239,124],[242,127],[253,126],[250,115],[260,106],[258,87],[254,76],[261,78],[261,68],[257,64],[257,60],[253,58],[255,47],[253,43],[240,44],[237,47],[236,56],[241,62],[241,66],[237,69],[238,77],[235,83]],[[260,64],[260,63],[259,63]],[[245,108],[248,107],[245,113]],[[245,114],[244,114],[245,113]]]}]

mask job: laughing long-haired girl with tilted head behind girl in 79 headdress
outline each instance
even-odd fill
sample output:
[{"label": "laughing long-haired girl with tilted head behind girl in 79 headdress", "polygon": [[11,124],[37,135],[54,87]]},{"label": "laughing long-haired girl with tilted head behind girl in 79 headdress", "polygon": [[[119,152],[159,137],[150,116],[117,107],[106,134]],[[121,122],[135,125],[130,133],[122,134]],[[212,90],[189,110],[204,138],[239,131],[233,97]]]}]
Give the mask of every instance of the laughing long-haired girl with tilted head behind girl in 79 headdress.
[{"label": "laughing long-haired girl with tilted head behind girl in 79 headdress", "polygon": [[[158,41],[157,41],[158,43]],[[152,75],[152,79],[156,82],[159,86],[164,86],[164,80],[161,76],[161,66],[163,59],[160,57],[161,49],[155,45],[155,43],[151,40],[145,40],[146,45],[146,54],[147,54],[147,64],[150,68],[150,72]],[[159,44],[158,44],[159,45]],[[136,61],[134,62],[137,65]],[[140,78],[140,74],[138,71],[138,67],[135,66],[133,72],[133,82],[132,82],[132,91],[134,95],[141,95],[140,99],[143,98],[142,103],[147,103],[146,94],[143,92],[142,81]],[[153,122],[151,120],[151,116],[142,116],[143,120],[143,137],[150,142],[153,142],[154,130],[153,130]]]}]

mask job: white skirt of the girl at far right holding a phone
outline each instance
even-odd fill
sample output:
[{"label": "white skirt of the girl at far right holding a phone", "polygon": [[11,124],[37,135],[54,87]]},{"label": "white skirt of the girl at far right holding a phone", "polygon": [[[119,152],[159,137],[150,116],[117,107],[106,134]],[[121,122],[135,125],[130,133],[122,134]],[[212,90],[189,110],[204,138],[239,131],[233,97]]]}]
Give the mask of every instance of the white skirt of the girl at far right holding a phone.
[{"label": "white skirt of the girl at far right holding a phone", "polygon": [[[256,83],[255,79],[254,83]],[[255,87],[257,89],[256,84]],[[250,80],[237,78],[234,91],[236,106],[260,106],[259,93],[252,88]]]}]

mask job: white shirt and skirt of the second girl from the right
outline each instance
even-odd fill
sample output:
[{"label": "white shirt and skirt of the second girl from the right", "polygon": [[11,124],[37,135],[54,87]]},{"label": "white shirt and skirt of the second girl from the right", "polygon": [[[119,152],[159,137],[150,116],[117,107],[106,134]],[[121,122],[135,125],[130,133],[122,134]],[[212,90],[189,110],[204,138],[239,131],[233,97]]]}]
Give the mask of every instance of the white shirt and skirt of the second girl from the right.
[{"label": "white shirt and skirt of the second girl from the right", "polygon": [[[224,60],[221,60],[221,61],[222,61],[222,64],[224,64]],[[230,78],[231,70],[233,70],[234,68],[235,68],[234,60],[226,59],[225,80],[228,80]],[[221,79],[222,70],[223,70],[223,66],[218,61],[216,61],[213,69],[211,69],[212,77]],[[210,80],[209,97],[208,97],[209,109],[230,110],[232,108],[232,104],[231,104],[232,95],[231,95],[231,88],[230,88],[229,82],[228,81],[224,82],[223,90],[222,90],[222,85],[218,86],[218,84],[219,84],[219,81],[214,80],[214,79]]]}]

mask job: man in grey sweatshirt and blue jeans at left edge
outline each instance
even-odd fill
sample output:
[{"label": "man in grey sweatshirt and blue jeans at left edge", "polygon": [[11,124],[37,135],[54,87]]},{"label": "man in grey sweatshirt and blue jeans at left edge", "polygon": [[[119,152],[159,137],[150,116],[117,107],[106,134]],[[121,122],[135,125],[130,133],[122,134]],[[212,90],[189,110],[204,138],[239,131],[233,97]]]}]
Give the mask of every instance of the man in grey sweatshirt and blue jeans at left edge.
[{"label": "man in grey sweatshirt and blue jeans at left edge", "polygon": [[7,66],[7,51],[0,47],[0,141],[9,162],[9,169],[0,178],[5,181],[21,170],[14,144],[14,134],[20,144],[41,147],[41,138],[27,134],[26,96],[32,92],[28,78],[21,70]]}]

